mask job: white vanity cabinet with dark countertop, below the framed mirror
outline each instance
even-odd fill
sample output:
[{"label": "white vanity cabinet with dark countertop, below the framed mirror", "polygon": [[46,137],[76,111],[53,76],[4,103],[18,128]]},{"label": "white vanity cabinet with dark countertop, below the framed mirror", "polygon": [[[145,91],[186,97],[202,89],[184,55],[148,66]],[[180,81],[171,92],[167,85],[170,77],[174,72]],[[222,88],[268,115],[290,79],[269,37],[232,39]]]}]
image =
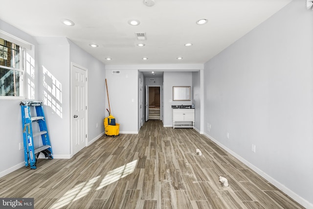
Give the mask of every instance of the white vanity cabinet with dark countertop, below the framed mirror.
[{"label": "white vanity cabinet with dark countertop, below the framed mirror", "polygon": [[173,108],[173,128],[195,128],[195,109]]}]

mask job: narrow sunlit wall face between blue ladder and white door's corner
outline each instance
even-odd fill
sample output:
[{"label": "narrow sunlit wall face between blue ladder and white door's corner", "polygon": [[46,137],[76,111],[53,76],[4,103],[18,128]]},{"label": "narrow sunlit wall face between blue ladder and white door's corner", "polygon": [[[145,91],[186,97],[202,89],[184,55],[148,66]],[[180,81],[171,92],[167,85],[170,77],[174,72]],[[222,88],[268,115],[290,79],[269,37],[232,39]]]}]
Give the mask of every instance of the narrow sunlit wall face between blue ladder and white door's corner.
[{"label": "narrow sunlit wall face between blue ladder and white door's corner", "polygon": [[[69,44],[65,37],[36,37],[36,40],[40,52],[39,100],[45,104],[45,118],[53,156],[70,158]],[[44,79],[48,80],[46,76],[51,78],[53,84],[45,84]],[[57,96],[58,93],[60,96]]]}]

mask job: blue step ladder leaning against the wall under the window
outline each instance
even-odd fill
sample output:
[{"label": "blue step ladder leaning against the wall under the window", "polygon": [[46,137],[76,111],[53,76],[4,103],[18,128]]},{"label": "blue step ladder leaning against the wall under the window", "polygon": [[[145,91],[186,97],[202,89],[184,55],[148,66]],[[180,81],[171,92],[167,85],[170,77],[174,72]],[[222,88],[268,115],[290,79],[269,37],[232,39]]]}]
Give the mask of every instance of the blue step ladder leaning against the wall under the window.
[{"label": "blue step ladder leaning against the wall under the window", "polygon": [[[22,111],[25,166],[28,167],[30,165],[31,169],[36,169],[36,163],[40,153],[43,153],[48,159],[53,159],[43,103],[40,101],[22,101],[20,105]],[[31,113],[35,112],[37,116],[31,116]],[[40,131],[37,133],[33,133],[33,122],[37,122],[39,125]],[[42,139],[42,146],[35,148],[34,138],[37,139],[39,136],[41,136]]]}]

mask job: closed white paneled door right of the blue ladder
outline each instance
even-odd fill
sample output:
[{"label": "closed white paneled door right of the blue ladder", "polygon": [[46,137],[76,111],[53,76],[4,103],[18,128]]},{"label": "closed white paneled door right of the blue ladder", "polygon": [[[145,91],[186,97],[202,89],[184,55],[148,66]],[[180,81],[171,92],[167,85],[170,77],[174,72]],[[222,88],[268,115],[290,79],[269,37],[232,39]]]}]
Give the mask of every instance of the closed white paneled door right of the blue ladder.
[{"label": "closed white paneled door right of the blue ladder", "polygon": [[71,141],[75,155],[87,141],[87,70],[75,64],[71,69]]}]

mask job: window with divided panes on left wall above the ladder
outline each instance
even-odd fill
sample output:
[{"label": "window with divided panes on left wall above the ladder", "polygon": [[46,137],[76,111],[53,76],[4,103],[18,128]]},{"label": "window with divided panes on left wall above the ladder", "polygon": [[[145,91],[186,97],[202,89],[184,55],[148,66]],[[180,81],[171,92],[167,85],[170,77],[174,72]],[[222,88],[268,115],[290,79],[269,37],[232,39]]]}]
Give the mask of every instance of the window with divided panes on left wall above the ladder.
[{"label": "window with divided panes on left wall above the ladder", "polygon": [[22,46],[0,38],[0,96],[23,96]]}]

